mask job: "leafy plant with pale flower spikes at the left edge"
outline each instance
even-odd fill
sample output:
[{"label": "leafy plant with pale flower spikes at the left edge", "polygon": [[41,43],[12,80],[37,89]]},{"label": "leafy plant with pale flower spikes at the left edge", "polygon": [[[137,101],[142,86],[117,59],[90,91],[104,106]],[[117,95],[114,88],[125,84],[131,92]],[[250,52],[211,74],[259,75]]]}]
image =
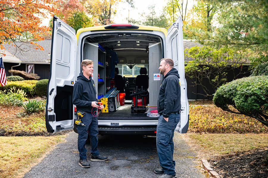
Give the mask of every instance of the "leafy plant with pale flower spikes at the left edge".
[{"label": "leafy plant with pale flower spikes at the left edge", "polygon": [[23,90],[16,90],[14,87],[9,90],[0,91],[0,104],[22,106],[27,100]]}]

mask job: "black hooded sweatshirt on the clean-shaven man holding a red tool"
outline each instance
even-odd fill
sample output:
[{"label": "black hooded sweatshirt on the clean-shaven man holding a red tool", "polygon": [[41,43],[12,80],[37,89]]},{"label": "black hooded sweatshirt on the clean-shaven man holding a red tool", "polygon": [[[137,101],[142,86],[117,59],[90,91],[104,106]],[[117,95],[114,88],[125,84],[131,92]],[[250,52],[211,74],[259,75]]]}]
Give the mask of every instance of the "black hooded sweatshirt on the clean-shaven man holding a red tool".
[{"label": "black hooded sweatshirt on the clean-shaven man holding a red tool", "polygon": [[92,101],[98,102],[94,81],[91,76],[88,80],[83,73],[80,73],[74,84],[73,104],[76,105],[77,110],[91,112]]}]

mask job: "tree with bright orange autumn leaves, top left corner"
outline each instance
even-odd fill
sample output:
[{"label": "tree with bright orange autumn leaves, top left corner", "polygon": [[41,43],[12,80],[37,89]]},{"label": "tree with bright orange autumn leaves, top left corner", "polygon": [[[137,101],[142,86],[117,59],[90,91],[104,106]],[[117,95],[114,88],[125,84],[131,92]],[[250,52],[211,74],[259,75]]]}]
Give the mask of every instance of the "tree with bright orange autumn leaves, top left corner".
[{"label": "tree with bright orange autumn leaves, top left corner", "polygon": [[[60,0],[0,0],[0,49],[4,50],[6,43],[17,46],[16,41],[24,33],[43,40],[50,28],[41,26],[42,20],[57,12],[55,7],[58,1]],[[30,43],[36,49],[43,50],[37,43]]]}]

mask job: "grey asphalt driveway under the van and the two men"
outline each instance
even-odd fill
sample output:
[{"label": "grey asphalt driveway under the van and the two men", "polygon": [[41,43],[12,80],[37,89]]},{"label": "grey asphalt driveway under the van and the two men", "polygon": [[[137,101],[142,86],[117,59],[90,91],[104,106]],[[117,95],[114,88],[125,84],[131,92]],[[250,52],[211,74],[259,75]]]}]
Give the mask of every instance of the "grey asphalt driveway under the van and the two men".
[{"label": "grey asphalt driveway under the van and the two men", "polygon": [[[77,136],[75,132],[70,132],[66,142],[57,144],[24,178],[157,177],[154,169],[160,165],[155,137],[99,136],[98,149],[100,154],[108,156],[109,161],[90,161],[91,167],[85,169],[78,165]],[[196,155],[178,133],[174,135],[174,147],[177,177],[205,178],[197,167]],[[86,144],[86,148],[90,153],[90,144]]]}]

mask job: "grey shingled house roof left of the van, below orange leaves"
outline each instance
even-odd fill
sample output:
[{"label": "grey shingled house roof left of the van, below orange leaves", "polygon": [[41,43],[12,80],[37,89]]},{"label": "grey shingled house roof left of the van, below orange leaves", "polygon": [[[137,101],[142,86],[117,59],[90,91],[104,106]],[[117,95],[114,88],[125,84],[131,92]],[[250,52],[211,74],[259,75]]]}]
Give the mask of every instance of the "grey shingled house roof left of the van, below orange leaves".
[{"label": "grey shingled house roof left of the van, below orange leaves", "polygon": [[30,44],[30,42],[16,42],[16,45],[23,51],[18,49],[18,47],[14,47],[14,45],[6,44],[4,45],[6,56],[3,56],[3,62],[50,64],[51,42],[51,39],[35,42],[42,46],[44,50],[36,50],[35,45]]}]

